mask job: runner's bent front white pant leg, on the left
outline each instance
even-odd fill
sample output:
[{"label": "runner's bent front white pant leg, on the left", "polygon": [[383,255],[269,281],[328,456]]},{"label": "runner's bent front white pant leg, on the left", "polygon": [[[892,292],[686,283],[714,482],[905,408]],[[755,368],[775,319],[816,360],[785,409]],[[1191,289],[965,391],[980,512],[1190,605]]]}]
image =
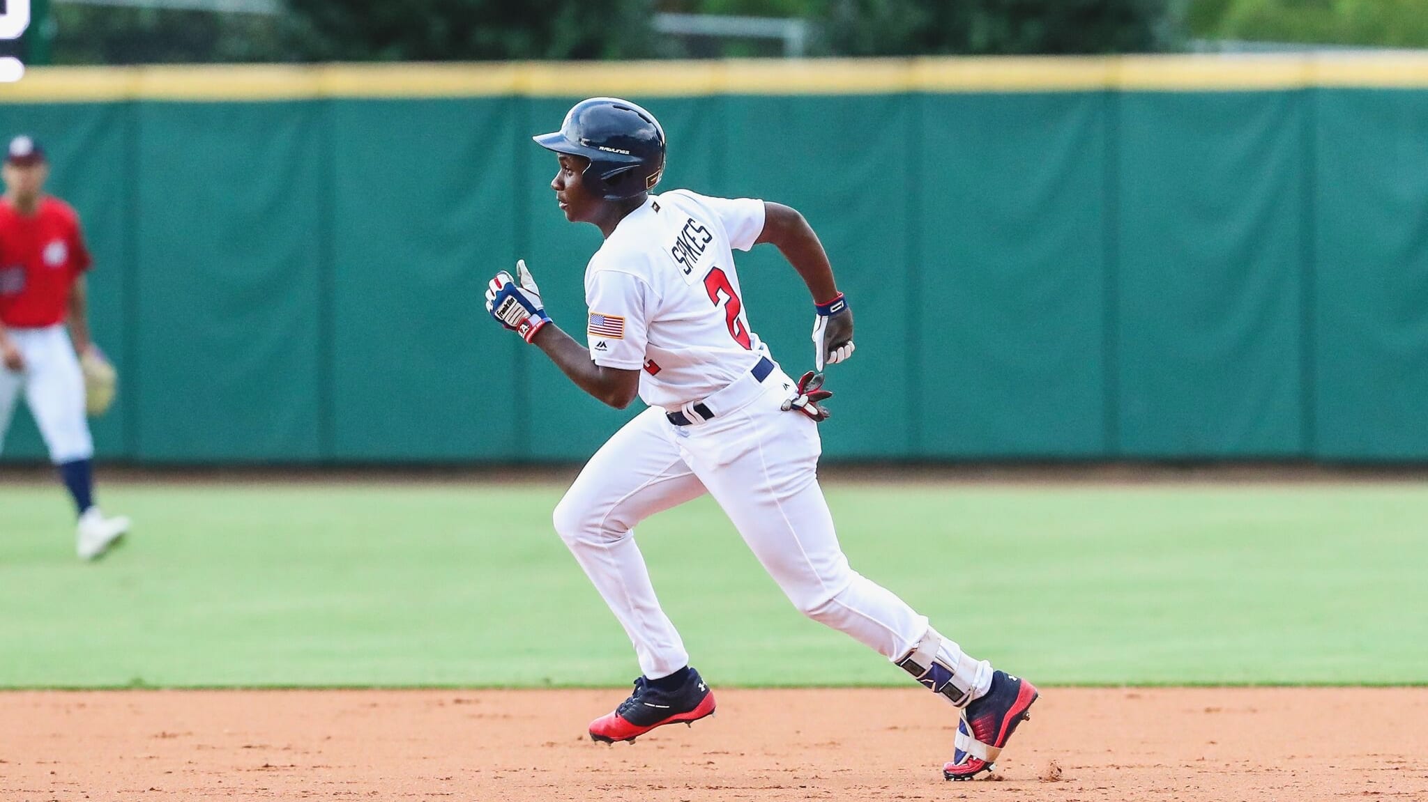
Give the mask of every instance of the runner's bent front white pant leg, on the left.
[{"label": "runner's bent front white pant leg, on the left", "polygon": [[690,655],[654,595],[634,527],[704,495],[668,427],[658,408],[625,424],[590,458],[554,515],[555,531],[620,619],[650,678],[674,674]]}]

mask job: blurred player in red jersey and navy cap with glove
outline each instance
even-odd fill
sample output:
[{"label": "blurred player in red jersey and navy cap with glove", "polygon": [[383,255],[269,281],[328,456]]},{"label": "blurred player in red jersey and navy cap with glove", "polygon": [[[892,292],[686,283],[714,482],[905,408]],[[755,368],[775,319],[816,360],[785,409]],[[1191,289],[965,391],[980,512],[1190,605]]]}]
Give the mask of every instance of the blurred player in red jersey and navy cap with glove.
[{"label": "blurred player in red jersey and navy cap with glove", "polygon": [[106,518],[94,504],[94,442],[76,357],[93,348],[84,287],[90,254],[74,210],[44,194],[49,171],[33,138],[10,141],[0,198],[0,447],[23,388],[79,511],[76,551],[94,559],[124,535],[129,519]]}]

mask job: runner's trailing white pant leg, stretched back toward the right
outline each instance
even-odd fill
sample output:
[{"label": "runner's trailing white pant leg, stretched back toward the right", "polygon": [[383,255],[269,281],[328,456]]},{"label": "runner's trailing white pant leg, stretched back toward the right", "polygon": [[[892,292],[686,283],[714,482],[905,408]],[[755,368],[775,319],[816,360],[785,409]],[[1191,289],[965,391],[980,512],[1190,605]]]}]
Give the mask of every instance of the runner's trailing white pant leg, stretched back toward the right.
[{"label": "runner's trailing white pant leg, stretched back toward the right", "polygon": [[[900,659],[928,634],[928,621],[848,567],[818,487],[818,427],[778,408],[781,380],[770,377],[770,390],[743,410],[691,427],[683,441],[690,465],[794,606]],[[957,644],[942,641],[940,651],[958,665]],[[991,668],[982,664],[978,674],[985,691]]]}]

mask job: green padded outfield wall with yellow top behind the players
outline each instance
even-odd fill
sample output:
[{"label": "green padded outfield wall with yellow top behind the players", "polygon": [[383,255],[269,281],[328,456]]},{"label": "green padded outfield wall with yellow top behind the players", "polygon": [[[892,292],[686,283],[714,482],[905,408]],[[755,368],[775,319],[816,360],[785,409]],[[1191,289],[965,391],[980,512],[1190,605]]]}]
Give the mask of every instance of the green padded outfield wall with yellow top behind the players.
[{"label": "green padded outfield wall with yellow top behind the players", "polygon": [[[598,245],[530,134],[590,94],[661,188],[800,208],[858,320],[834,458],[1428,460],[1428,59],[36,70],[0,88],[83,215],[104,457],[581,460],[633,411],[486,315]],[[754,328],[810,367],[761,247]],[[7,460],[43,454],[21,414]]]}]

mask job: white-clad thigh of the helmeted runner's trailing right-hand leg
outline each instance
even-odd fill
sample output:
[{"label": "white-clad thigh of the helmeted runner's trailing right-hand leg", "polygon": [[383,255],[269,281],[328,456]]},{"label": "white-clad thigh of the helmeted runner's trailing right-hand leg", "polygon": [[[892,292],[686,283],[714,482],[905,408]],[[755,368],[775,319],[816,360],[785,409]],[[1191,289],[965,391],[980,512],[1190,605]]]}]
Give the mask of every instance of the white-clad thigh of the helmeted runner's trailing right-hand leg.
[{"label": "white-clad thigh of the helmeted runner's trailing right-hand leg", "polygon": [[738,415],[731,435],[717,438],[737,445],[723,452],[701,450],[694,467],[788,598],[800,608],[817,606],[851,581],[818,487],[817,424],[777,407]]}]

